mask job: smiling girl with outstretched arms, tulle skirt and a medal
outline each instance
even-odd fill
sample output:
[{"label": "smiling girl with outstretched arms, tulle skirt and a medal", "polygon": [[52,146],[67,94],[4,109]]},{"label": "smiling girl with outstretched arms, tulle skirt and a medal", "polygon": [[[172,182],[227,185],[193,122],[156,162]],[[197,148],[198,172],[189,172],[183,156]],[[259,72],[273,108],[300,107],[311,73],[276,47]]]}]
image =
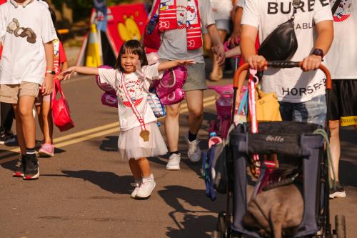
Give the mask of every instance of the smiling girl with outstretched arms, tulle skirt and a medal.
[{"label": "smiling girl with outstretched arms, tulle skirt and a medal", "polygon": [[147,66],[148,61],[139,41],[126,41],[121,46],[115,69],[97,69],[74,66],[59,76],[69,79],[74,72],[99,75],[101,83],[116,89],[119,101],[121,133],[118,147],[121,159],[129,160],[136,187],[133,198],[149,197],[154,187],[154,176],[146,157],[167,153],[166,144],[156,125],[156,117],[146,101],[151,80],[160,79],[164,69],[180,64],[193,64],[193,60],[166,61]]}]

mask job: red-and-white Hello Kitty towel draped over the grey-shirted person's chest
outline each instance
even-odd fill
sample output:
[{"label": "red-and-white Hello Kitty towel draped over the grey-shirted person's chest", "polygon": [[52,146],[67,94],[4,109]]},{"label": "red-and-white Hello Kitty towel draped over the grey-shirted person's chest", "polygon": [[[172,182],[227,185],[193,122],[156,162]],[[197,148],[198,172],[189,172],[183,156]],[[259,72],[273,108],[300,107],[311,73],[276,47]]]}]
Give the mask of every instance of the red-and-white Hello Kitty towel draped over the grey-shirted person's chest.
[{"label": "red-and-white Hello Kitty towel draped over the grey-shirted person's chest", "polygon": [[201,20],[197,0],[187,0],[182,6],[176,0],[158,0],[159,31],[171,29],[185,29],[187,35],[187,49],[199,49],[202,46]]}]

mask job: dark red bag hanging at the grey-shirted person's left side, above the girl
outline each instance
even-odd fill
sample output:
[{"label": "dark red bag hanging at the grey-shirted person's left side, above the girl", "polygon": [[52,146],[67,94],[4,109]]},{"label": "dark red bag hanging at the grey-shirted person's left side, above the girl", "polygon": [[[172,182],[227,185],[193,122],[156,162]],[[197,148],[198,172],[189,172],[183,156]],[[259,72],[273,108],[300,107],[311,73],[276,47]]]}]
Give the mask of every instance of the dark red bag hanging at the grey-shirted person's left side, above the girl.
[{"label": "dark red bag hanging at the grey-shirted person's left side, above the girl", "polygon": [[[160,4],[160,0],[157,0],[156,4],[154,6],[154,9],[151,12],[150,19],[149,19],[148,23],[146,24],[146,27],[144,30],[144,46],[146,48],[151,49],[151,51],[159,50],[160,44],[161,44],[160,32],[159,32],[159,12],[158,12],[159,4]],[[154,19],[155,14],[157,14],[156,23],[151,22],[151,21],[155,21],[155,19]],[[150,29],[151,27],[154,27],[154,30]],[[150,34],[148,33],[148,31]],[[152,31],[152,32],[150,32],[150,31]]]}]

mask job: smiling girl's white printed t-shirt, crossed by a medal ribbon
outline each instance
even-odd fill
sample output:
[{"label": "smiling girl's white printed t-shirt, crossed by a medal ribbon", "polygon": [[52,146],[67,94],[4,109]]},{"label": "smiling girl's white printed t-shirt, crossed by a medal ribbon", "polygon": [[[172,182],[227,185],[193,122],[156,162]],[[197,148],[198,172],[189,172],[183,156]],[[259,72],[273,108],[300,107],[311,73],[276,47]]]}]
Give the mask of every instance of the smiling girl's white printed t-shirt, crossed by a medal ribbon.
[{"label": "smiling girl's white printed t-shirt, crossed by a medal ribbon", "polygon": [[[151,110],[149,102],[146,101],[146,99],[148,97],[147,91],[149,91],[151,80],[161,79],[162,77],[162,74],[159,74],[158,66],[159,64],[143,66],[142,71],[145,78],[140,76],[137,71],[131,74],[124,74],[117,69],[99,68],[99,78],[101,82],[110,84],[116,89],[121,131],[140,127],[139,119],[131,109],[131,103],[124,91],[124,85],[130,95],[131,101],[133,101],[140,116],[144,119],[145,124],[156,122],[154,112]],[[123,76],[124,80],[122,80]],[[122,81],[124,81],[124,84],[122,84]]]}]

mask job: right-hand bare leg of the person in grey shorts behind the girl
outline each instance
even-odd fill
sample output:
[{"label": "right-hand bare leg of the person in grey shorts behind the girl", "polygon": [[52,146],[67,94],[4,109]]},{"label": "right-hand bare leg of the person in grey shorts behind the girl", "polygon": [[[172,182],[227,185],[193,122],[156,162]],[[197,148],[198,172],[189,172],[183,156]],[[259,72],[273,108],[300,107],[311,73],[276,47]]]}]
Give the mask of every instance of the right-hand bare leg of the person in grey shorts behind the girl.
[{"label": "right-hand bare leg of the person in grey shorts behind the girl", "polygon": [[186,91],[188,127],[192,134],[198,134],[203,121],[203,90]]}]

